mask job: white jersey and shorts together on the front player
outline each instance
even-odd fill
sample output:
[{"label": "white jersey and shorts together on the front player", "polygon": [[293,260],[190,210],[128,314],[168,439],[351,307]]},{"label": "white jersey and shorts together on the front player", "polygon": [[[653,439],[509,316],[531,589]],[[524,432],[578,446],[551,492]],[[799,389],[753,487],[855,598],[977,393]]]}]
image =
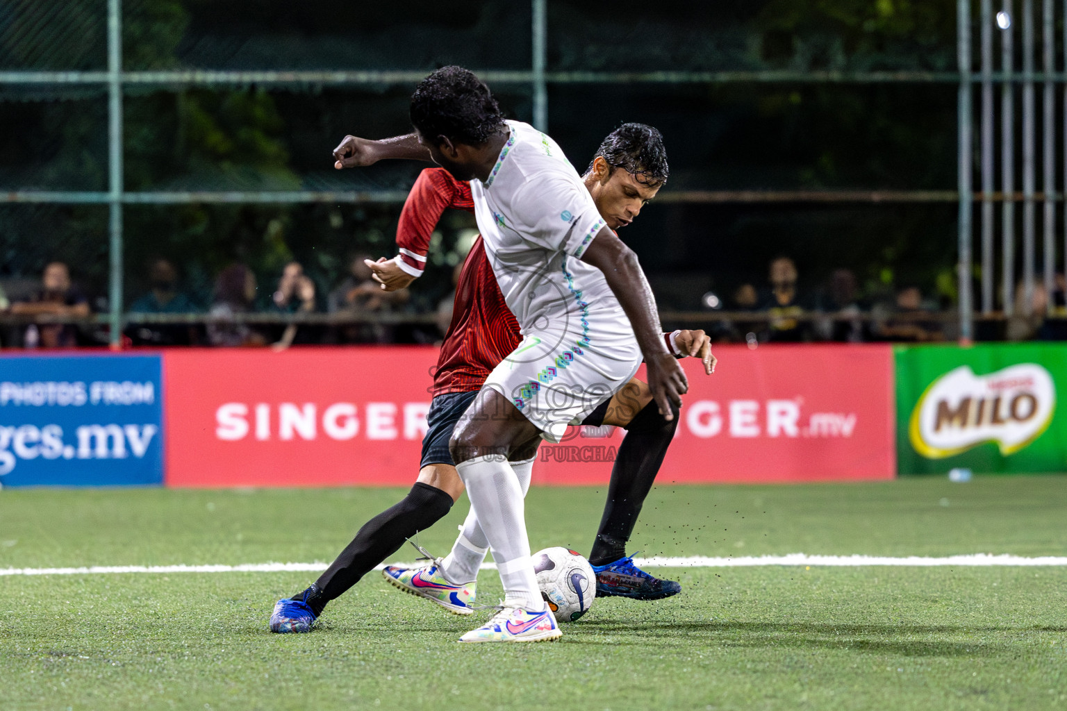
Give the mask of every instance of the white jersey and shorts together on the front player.
[{"label": "white jersey and shorts together on the front player", "polygon": [[485,182],[471,181],[489,262],[523,341],[485,379],[559,441],[641,362],[630,319],[604,274],[580,257],[605,222],[556,142],[508,122]]}]

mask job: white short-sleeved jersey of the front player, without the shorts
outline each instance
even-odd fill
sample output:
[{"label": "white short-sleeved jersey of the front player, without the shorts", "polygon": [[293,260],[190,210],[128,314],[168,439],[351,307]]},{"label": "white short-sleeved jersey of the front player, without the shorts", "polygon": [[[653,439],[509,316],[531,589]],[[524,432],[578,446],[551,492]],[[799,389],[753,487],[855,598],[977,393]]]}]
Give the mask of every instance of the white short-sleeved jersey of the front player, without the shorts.
[{"label": "white short-sleeved jersey of the front player, without the shorts", "polygon": [[489,179],[472,180],[471,193],[489,261],[523,335],[585,320],[609,330],[608,340],[633,339],[604,274],[580,259],[606,225],[580,176],[551,138],[529,124],[508,127]]}]

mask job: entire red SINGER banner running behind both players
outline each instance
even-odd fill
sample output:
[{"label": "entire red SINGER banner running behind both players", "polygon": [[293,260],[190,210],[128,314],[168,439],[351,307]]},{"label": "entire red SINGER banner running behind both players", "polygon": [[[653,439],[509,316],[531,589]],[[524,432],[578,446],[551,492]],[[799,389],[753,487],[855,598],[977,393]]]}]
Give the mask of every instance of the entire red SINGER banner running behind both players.
[{"label": "entire red SINGER banner running behind both players", "polygon": [[[891,479],[889,346],[719,346],[686,359],[689,393],[666,482]],[[172,351],[164,355],[170,486],[407,485],[426,431],[431,348]],[[608,481],[621,432],[572,427],[534,482]]]}]

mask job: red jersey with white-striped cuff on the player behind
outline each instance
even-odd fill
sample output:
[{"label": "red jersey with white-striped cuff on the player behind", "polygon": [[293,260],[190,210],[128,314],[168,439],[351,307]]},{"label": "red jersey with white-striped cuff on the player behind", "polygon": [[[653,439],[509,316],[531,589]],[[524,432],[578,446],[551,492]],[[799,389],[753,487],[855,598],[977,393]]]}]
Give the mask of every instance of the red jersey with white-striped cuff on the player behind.
[{"label": "red jersey with white-striped cuff on the player behind", "polygon": [[[397,262],[412,276],[423,274],[430,236],[446,208],[474,212],[471,187],[444,168],[426,168],[408,195],[397,225]],[[456,285],[452,321],[433,375],[433,397],[480,390],[520,340],[519,322],[504,302],[479,237]]]}]

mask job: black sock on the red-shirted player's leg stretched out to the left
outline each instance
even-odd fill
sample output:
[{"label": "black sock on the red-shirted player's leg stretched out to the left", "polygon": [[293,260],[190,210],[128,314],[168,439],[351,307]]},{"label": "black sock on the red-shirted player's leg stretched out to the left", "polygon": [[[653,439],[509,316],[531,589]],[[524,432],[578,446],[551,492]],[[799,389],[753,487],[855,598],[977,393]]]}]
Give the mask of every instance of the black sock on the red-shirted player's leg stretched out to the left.
[{"label": "black sock on the red-shirted player's leg stretched out to the left", "polygon": [[402,501],[364,523],[327,571],[294,599],[307,594],[304,601],[316,615],[321,614],[327,602],[360,582],[376,565],[400,550],[404,540],[436,523],[451,507],[450,496],[416,482]]}]

